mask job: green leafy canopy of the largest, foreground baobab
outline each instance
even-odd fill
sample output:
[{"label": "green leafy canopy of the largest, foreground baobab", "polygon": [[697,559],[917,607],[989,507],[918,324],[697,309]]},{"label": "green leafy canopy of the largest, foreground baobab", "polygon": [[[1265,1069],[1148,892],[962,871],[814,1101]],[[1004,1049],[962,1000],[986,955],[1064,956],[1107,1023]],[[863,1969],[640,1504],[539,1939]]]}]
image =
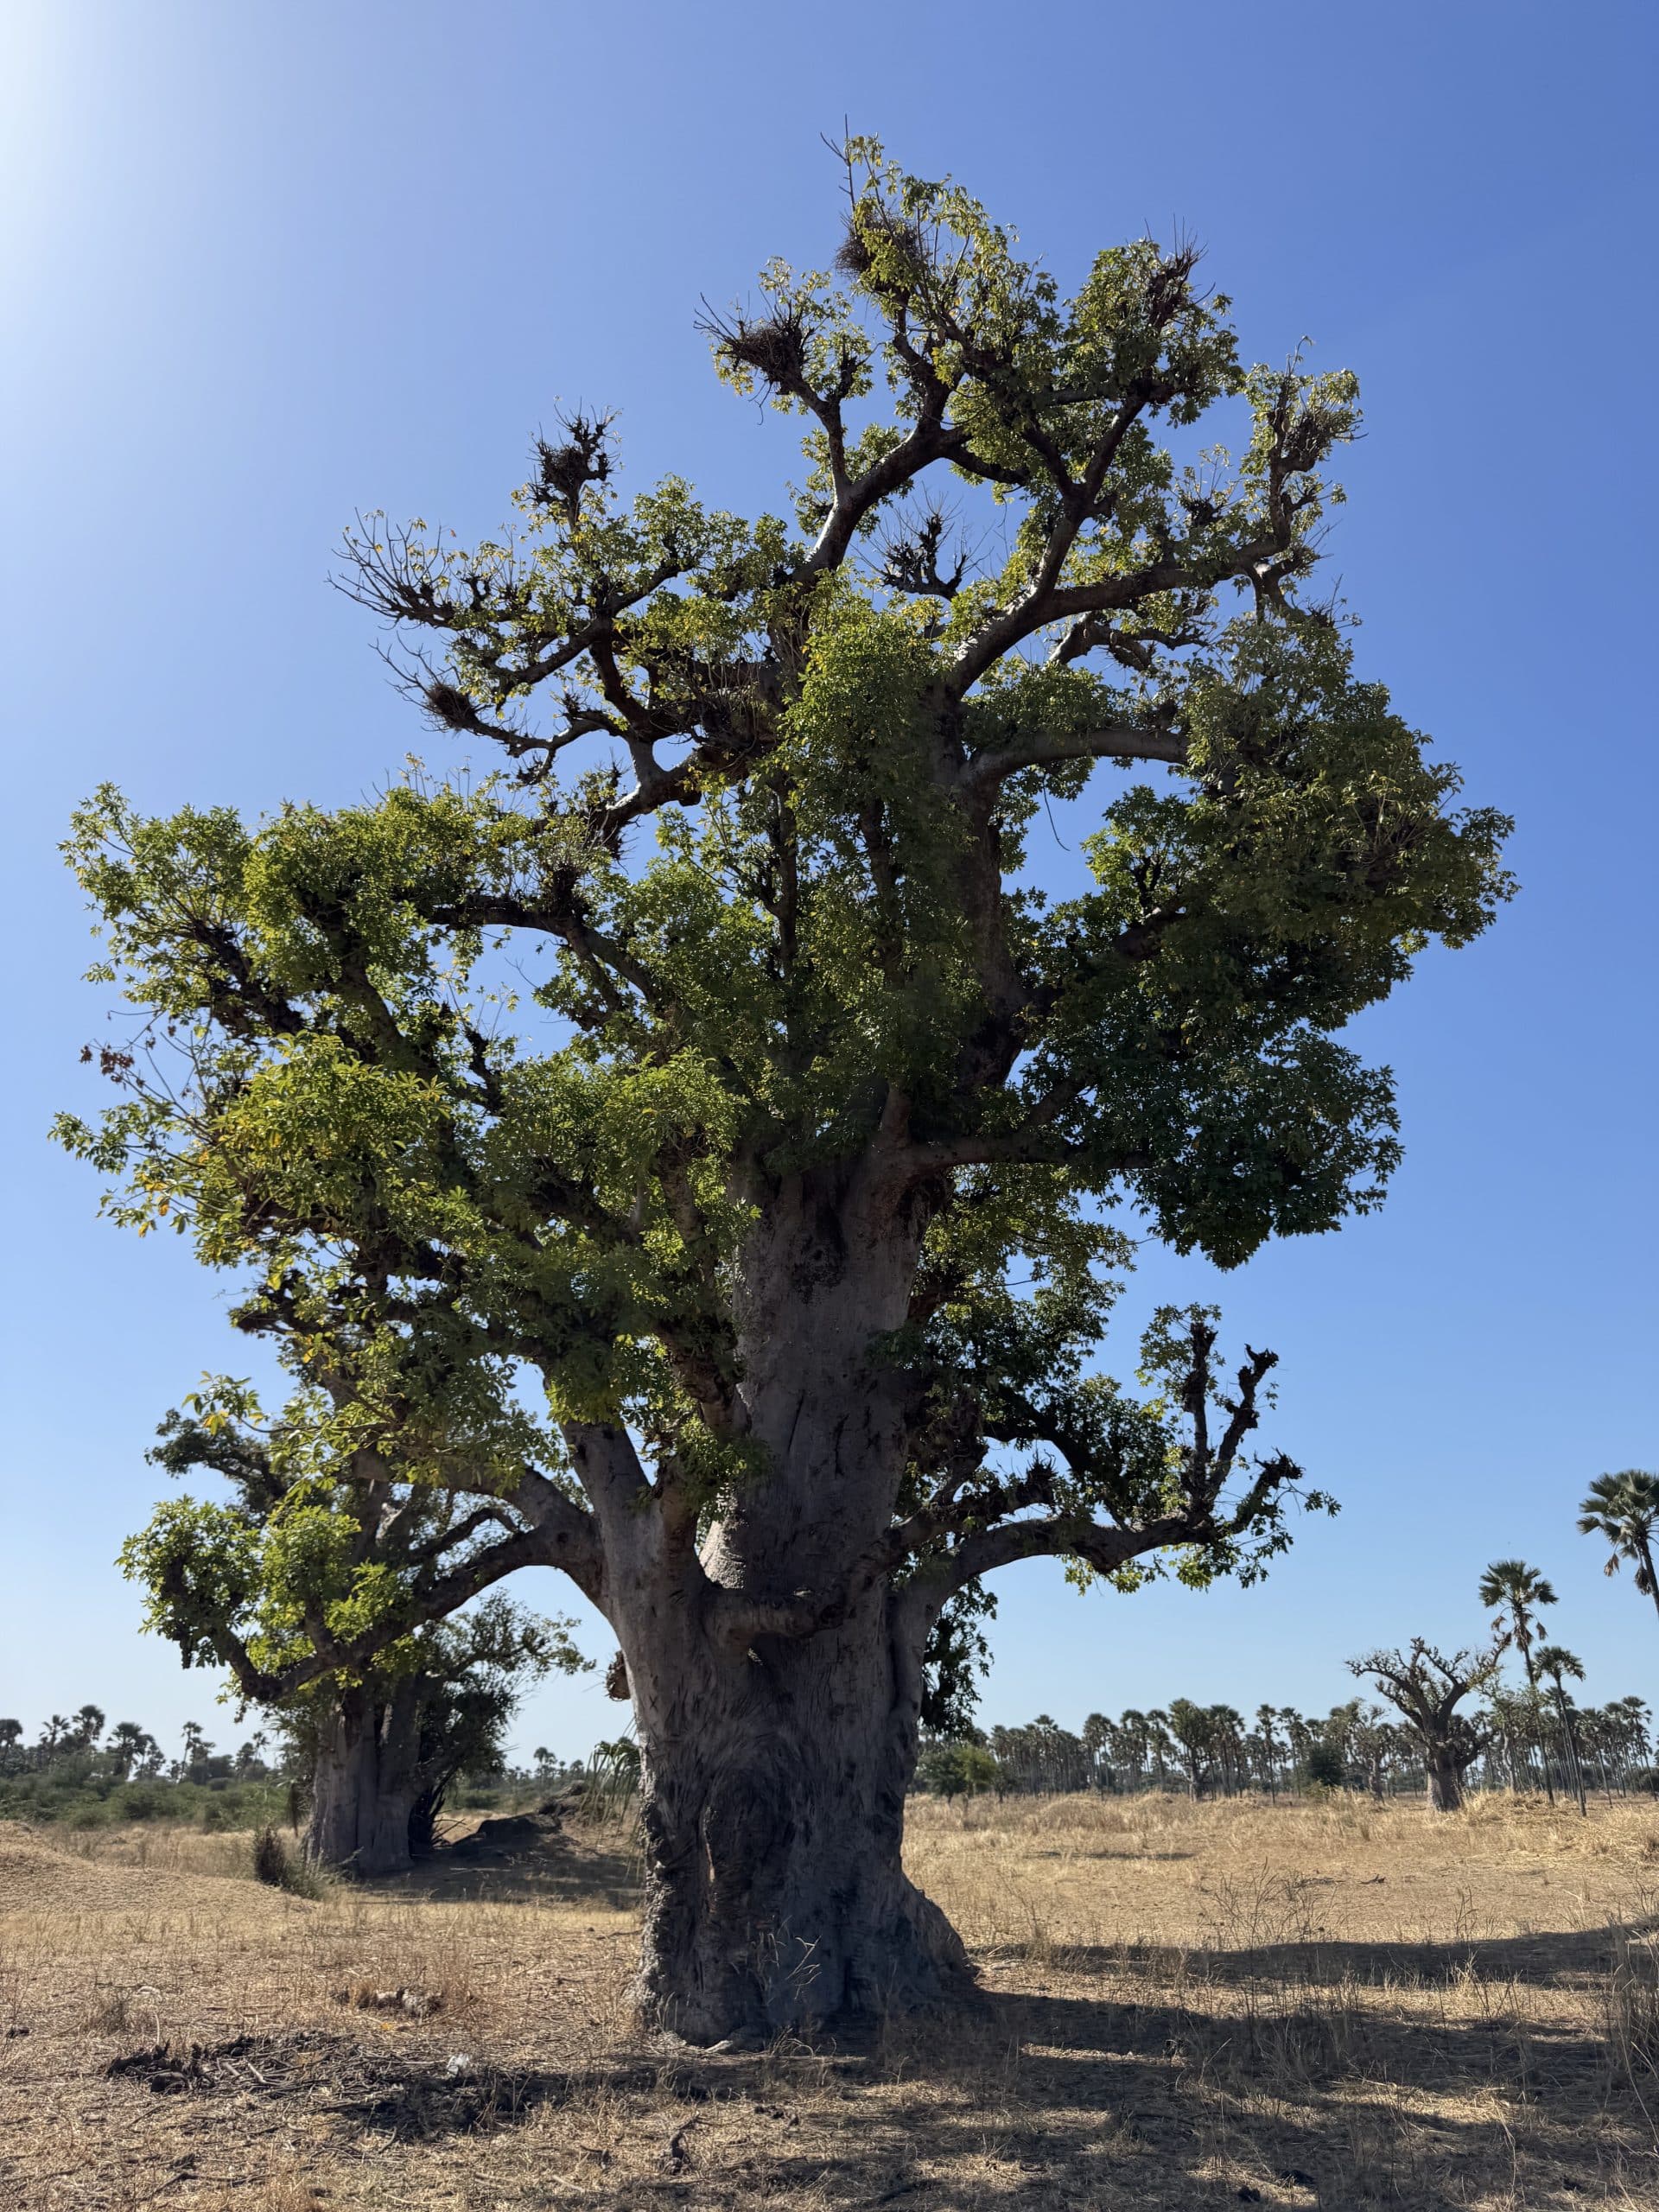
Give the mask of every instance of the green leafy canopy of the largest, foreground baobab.
[{"label": "green leafy canopy of the largest, foreground baobab", "polygon": [[[1186,1365],[1159,1323],[1150,1402],[1086,1371],[1110,1210],[1237,1265],[1376,1206],[1391,1082],[1340,1031],[1486,927],[1506,823],[1458,805],[1310,591],[1356,380],[1241,367],[1186,246],[1102,252],[1062,296],[958,186],[845,159],[834,270],[774,263],[708,319],[721,376],[803,425],[787,515],[679,478],[626,498],[573,416],[498,540],[347,533],[347,588],[498,774],[252,825],[108,787],[75,816],[137,1029],[102,1048],[117,1104],[60,1135],[119,1219],[243,1272],[243,1325],[330,1398],[336,1475],[356,1425],[440,1489],[531,1467],[584,1511],[566,1453],[608,1425],[703,1517],[774,1471],[757,1237],[878,1161],[918,1223],[902,1318],[872,1325],[911,1378],[894,1515],[962,1451],[1024,1453],[951,1475],[896,1573],[967,1571],[1037,1506],[1084,1577],[1148,1571],[1102,1513],[1194,1579],[1241,1571],[1294,1469],[1250,1475],[1243,1520],[1194,1473],[1208,1316]],[[1197,442],[1212,409],[1237,460]],[[989,509],[993,557],[953,551],[936,482]],[[1088,880],[1055,898],[1031,841],[1084,792]],[[197,1520],[201,1573],[367,1619],[305,1480],[254,1564]],[[290,1599],[259,1604],[281,1644]]]}]

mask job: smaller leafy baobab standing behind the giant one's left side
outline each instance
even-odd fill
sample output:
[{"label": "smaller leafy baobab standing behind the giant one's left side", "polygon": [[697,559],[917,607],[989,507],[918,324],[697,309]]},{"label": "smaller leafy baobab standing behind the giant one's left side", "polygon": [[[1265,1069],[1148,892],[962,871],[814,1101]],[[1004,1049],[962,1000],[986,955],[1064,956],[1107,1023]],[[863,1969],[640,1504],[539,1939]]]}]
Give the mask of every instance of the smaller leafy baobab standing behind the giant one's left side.
[{"label": "smaller leafy baobab standing behind the giant one's left side", "polygon": [[[471,1509],[442,1484],[447,1455],[502,1460],[500,1420],[522,1442],[478,1394],[469,1420],[449,1405],[445,1431],[405,1420],[394,1458],[354,1418],[385,1349],[336,1332],[336,1396],[301,1389],[272,1420],[246,1383],[195,1394],[150,1458],[175,1475],[210,1471],[228,1498],[173,1498],[122,1548],[146,1588],[144,1626],[186,1666],[223,1666],[246,1703],[283,1721],[307,1772],[305,1856],[352,1876],[405,1871],[515,1683],[584,1663],[566,1621],[500,1599],[460,1615],[538,1555],[515,1502],[533,1471],[502,1462],[518,1480],[502,1473],[500,1495]],[[186,1763],[206,1750],[186,1741]]]}]

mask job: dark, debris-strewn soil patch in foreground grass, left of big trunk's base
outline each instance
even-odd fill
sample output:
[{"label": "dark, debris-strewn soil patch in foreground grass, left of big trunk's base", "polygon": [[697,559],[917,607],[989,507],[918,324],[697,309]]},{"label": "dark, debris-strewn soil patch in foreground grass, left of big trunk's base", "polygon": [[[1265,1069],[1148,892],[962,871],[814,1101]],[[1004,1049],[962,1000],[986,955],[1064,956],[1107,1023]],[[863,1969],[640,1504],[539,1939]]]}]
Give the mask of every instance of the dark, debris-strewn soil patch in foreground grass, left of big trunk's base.
[{"label": "dark, debris-strewn soil patch in foreground grass, left of big trunk's base", "polygon": [[710,2090],[672,2066],[613,2073],[504,2068],[465,2051],[442,2059],[363,2051],[314,2028],[237,2035],[226,2044],[150,2044],[104,2070],[115,2081],[144,2081],[161,2097],[296,2097],[312,2112],[332,2112],[398,2141],[511,2128],[540,2106],[562,2106],[599,2088],[670,2095],[681,2104],[734,2093]]}]

